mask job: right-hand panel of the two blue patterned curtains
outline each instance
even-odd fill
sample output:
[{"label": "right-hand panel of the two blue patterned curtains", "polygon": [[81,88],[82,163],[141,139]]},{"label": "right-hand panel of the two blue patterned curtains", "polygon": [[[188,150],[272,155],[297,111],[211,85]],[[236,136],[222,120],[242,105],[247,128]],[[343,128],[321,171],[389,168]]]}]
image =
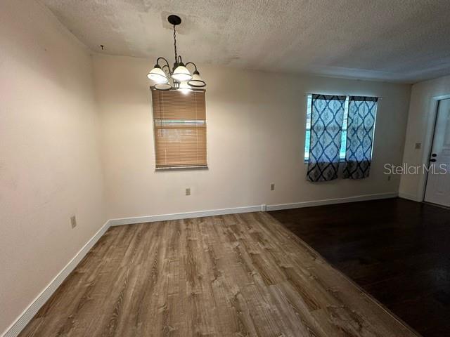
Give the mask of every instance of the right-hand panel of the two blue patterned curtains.
[{"label": "right-hand panel of the two blue patterned curtains", "polygon": [[350,97],[344,178],[362,179],[369,175],[377,104],[377,97]]}]

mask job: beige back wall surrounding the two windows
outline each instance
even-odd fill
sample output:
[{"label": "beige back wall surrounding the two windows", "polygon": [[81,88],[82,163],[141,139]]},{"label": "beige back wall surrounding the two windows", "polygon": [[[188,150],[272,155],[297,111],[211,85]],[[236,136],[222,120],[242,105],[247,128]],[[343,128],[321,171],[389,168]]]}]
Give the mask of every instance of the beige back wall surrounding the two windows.
[{"label": "beige back wall surrounding the two windows", "polygon": [[[108,218],[397,192],[385,163],[401,164],[410,86],[200,67],[207,80],[207,171],[155,172],[146,73],[154,60],[94,56],[103,126]],[[304,93],[382,96],[371,176],[309,183]],[[276,190],[269,190],[270,183]],[[184,189],[191,187],[186,197]]]}]

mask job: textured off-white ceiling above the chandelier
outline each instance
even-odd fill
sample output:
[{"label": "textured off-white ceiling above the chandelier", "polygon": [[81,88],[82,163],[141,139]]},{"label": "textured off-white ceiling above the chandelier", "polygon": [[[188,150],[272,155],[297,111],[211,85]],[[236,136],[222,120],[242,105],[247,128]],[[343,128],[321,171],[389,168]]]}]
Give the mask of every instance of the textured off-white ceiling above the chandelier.
[{"label": "textured off-white ceiling above the chandelier", "polygon": [[[450,74],[450,0],[39,0],[93,51],[413,83]],[[99,45],[105,45],[101,51]]]}]

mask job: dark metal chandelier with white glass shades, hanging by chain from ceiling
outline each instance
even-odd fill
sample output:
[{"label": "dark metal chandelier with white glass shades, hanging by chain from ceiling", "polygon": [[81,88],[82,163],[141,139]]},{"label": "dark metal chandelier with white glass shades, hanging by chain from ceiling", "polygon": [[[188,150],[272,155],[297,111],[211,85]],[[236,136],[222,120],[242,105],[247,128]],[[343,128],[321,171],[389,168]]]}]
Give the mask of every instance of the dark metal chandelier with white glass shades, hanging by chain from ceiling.
[{"label": "dark metal chandelier with white glass shades, hanging by chain from ceiling", "polygon": [[[177,15],[169,15],[169,17],[167,17],[167,21],[174,26],[174,66],[171,69],[169,61],[160,57],[156,60],[155,67],[153,67],[153,69],[147,74],[148,79],[155,82],[153,88],[157,90],[176,89],[184,93],[188,93],[189,91],[192,91],[192,88],[203,88],[206,86],[206,83],[200,77],[200,72],[198,72],[195,63],[187,62],[185,65],[181,59],[181,55],[178,55],[176,52],[175,27],[181,23],[181,18]],[[162,65],[160,65],[160,62]],[[187,68],[189,65],[192,65],[195,69],[193,74],[191,74]]]}]

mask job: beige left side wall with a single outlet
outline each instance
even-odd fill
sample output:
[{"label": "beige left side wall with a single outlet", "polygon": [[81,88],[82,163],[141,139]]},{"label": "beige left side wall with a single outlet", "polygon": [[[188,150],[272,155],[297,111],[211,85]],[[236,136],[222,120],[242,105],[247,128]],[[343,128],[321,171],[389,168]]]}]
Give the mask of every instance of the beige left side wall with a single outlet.
[{"label": "beige left side wall with a single outlet", "polygon": [[0,2],[0,46],[1,335],[105,213],[89,53],[34,0]]}]

